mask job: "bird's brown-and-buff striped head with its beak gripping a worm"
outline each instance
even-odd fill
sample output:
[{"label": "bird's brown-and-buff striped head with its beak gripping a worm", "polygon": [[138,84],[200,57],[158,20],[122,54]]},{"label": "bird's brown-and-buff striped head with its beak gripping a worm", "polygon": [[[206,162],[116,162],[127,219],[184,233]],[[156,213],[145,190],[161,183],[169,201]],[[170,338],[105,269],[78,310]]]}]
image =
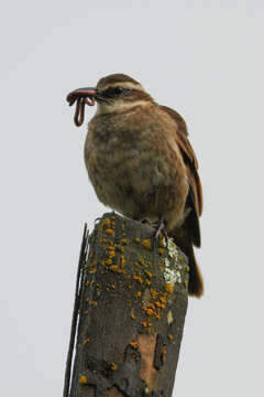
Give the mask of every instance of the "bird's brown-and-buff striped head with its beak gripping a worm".
[{"label": "bird's brown-and-buff striped head with its beak gripping a worm", "polygon": [[94,106],[98,105],[97,114],[124,111],[138,105],[153,101],[142,85],[124,74],[112,74],[102,77],[96,87],[78,88],[67,96],[69,105],[75,100]]}]

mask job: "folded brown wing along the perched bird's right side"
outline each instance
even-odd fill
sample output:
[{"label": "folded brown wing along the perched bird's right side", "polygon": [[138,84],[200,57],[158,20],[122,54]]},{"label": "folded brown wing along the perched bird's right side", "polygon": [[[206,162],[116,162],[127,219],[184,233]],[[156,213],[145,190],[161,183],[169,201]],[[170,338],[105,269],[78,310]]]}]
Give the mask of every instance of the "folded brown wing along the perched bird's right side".
[{"label": "folded brown wing along the perched bird's right side", "polygon": [[199,216],[202,212],[202,189],[200,178],[198,174],[198,161],[195,155],[194,149],[188,140],[188,130],[183,117],[175,110],[161,106],[177,124],[175,129],[175,138],[180,148],[183,159],[187,168],[187,176],[189,182],[189,195],[187,197],[187,205],[191,207],[191,213],[187,217],[187,223],[191,229],[193,243],[200,246],[200,230],[199,230]]}]

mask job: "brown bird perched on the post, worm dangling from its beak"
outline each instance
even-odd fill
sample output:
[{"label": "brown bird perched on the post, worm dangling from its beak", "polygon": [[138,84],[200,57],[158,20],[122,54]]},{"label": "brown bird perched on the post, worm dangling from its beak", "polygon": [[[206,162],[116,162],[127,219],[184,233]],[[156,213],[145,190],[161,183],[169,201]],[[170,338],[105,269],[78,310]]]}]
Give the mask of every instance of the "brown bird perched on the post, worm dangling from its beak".
[{"label": "brown bird perched on the post, worm dangling from its beak", "polygon": [[84,121],[85,104],[98,105],[85,143],[98,198],[127,217],[163,221],[189,258],[189,294],[200,297],[204,283],[194,245],[200,247],[202,191],[183,117],[155,103],[124,74],[103,77],[96,88],[77,89],[67,100],[77,100],[77,125]]}]

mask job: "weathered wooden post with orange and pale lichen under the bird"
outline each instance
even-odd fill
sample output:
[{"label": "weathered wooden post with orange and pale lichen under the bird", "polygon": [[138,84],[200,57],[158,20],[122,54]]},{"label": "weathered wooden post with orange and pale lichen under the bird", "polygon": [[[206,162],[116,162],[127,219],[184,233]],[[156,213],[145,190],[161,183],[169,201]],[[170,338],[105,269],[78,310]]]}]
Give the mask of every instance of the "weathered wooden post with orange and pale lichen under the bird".
[{"label": "weathered wooden post with orange and pale lichen under the bird", "polygon": [[[145,224],[105,214],[89,236],[87,258],[85,230],[70,397],[172,396],[188,260],[170,239],[153,235]],[[70,361],[69,354],[64,397]]]}]

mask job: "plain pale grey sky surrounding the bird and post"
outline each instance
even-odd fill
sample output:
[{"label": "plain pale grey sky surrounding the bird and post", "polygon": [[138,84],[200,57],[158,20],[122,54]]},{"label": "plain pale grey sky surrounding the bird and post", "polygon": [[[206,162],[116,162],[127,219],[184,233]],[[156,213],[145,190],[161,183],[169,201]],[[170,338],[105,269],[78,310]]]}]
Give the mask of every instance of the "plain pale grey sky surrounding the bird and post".
[{"label": "plain pale grey sky surrounding the bird and post", "polygon": [[82,226],[106,211],[65,97],[120,72],[183,114],[200,163],[206,294],[189,300],[174,395],[263,394],[263,11],[262,0],[6,2],[2,396],[62,395]]}]

